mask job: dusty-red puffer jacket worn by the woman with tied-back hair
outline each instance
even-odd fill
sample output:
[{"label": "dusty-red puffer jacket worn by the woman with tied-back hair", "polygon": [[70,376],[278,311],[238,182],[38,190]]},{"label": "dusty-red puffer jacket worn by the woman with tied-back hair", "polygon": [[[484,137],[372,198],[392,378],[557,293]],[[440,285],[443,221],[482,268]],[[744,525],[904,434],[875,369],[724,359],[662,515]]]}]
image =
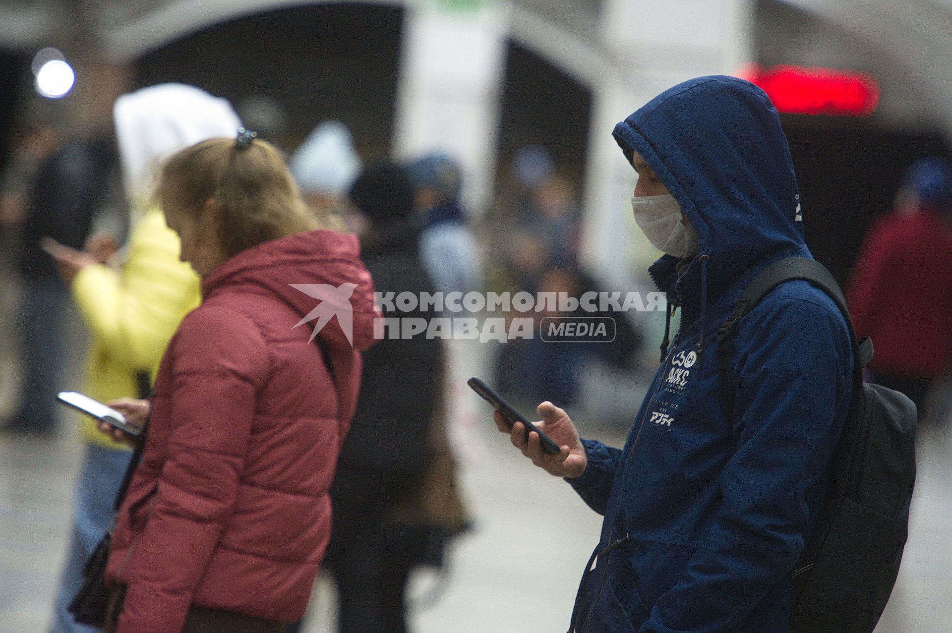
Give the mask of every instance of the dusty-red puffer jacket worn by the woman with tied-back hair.
[{"label": "dusty-red puffer jacket worn by the woman with tied-back hair", "polygon": [[[356,238],[315,230],[249,248],[203,294],[159,368],[113,535],[120,633],[181,631],[191,604],[296,621],[329,538],[327,488],[373,339]],[[333,379],[308,343],[315,326]]]}]

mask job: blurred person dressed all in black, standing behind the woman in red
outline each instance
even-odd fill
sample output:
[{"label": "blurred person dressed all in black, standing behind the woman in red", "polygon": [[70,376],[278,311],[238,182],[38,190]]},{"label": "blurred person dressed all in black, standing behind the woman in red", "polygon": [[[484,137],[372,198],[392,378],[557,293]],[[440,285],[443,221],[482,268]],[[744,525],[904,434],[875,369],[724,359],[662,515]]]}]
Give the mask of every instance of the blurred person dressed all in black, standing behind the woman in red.
[{"label": "blurred person dressed all in black, standing behind the woman in red", "polygon": [[[367,226],[361,242],[377,292],[432,292],[404,169],[366,168],[350,201]],[[433,316],[384,307],[385,318]],[[442,341],[424,333],[386,338],[364,353],[360,402],[330,488],[334,523],[326,560],[338,588],[338,633],[407,631],[410,569],[438,559],[462,527],[451,459],[446,462],[443,353]]]}]

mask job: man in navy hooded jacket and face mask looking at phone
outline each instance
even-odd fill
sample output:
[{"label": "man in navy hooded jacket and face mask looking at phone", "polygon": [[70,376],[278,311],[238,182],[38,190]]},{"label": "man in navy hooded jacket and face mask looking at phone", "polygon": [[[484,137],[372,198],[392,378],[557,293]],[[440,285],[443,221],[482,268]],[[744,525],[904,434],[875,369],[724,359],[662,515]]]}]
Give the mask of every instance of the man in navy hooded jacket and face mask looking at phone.
[{"label": "man in navy hooded jacket and face mask looking at phone", "polygon": [[823,501],[853,361],[833,301],[783,283],[737,325],[725,410],[718,327],[765,267],[810,257],[777,111],[744,80],[699,77],[614,135],[639,175],[635,218],[666,253],[649,272],[681,328],[670,344],[665,335],[624,448],[580,440],[550,403],[539,424],[559,455],[511,429],[533,463],[605,516],[570,630],[786,633],[789,575]]}]

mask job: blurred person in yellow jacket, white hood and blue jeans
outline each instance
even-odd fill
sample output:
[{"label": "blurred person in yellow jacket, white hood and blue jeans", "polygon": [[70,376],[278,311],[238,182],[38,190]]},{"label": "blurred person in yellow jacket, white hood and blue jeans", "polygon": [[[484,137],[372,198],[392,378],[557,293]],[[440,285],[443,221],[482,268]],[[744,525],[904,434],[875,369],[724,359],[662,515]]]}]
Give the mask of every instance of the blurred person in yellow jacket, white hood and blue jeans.
[{"label": "blurred person in yellow jacket, white hood and blue jeans", "polygon": [[[113,118],[123,183],[133,212],[141,212],[124,264],[107,266],[109,249],[96,240],[85,252],[47,245],[89,329],[83,392],[100,402],[142,395],[140,383],[146,381],[137,377],[154,376],[179,322],[201,301],[198,276],[180,261],[178,236],[166,226],[161,210],[144,202],[151,197],[157,168],[175,151],[208,138],[234,136],[241,125],[228,101],[182,84],[125,94],[116,100]],[[109,529],[112,503],[129,465],[125,445],[112,443],[91,419],[81,425],[87,448],[52,633],[96,631],[74,623],[67,607],[82,584],[92,549]]]}]

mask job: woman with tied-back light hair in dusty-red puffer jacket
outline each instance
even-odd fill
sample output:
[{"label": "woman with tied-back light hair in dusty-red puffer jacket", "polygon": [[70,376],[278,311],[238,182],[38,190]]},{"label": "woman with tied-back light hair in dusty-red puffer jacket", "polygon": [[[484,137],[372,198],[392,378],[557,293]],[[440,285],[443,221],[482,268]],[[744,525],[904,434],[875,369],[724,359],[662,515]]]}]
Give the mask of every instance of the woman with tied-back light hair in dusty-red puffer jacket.
[{"label": "woman with tied-back light hair in dusty-red puffer jacket", "polygon": [[[311,230],[281,153],[246,129],[174,154],[156,195],[202,304],[153,397],[113,403],[148,426],[109,550],[109,620],[116,633],[277,633],[304,615],[327,547],[372,282],[357,239]],[[329,316],[312,327],[317,313]]]}]

